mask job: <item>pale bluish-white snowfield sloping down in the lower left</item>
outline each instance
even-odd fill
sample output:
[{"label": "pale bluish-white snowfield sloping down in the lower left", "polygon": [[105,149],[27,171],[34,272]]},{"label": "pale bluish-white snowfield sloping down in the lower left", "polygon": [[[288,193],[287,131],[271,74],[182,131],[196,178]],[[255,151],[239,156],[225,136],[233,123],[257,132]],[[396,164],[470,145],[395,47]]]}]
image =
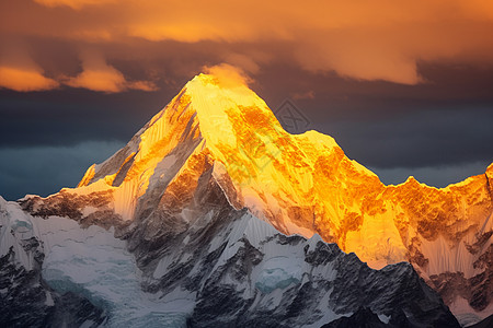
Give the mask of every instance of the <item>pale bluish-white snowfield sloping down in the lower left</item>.
[{"label": "pale bluish-white snowfield sloping down in the lower left", "polygon": [[[31,270],[33,253],[22,241],[35,237],[45,254],[43,279],[57,292],[73,292],[105,309],[107,327],[184,327],[193,309],[193,298],[165,303],[144,293],[141,272],[126,249],[126,242],[114,237],[114,230],[91,225],[82,229],[70,219],[42,219],[26,214],[18,203],[0,197],[0,256],[12,248],[19,266]],[[92,323],[85,323],[88,327]]]}]

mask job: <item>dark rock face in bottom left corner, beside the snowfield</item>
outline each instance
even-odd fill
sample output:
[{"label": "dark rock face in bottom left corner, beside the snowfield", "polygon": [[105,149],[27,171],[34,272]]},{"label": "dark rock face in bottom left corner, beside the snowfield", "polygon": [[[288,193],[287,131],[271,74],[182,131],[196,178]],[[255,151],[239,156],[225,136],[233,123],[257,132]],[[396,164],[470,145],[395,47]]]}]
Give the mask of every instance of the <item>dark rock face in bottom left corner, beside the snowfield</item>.
[{"label": "dark rock face in bottom left corner, beside the snowfield", "polygon": [[2,327],[98,327],[105,319],[101,309],[76,294],[60,295],[41,277],[44,254],[31,238],[23,247],[34,254],[34,268],[14,261],[14,251],[0,258],[0,323]]}]

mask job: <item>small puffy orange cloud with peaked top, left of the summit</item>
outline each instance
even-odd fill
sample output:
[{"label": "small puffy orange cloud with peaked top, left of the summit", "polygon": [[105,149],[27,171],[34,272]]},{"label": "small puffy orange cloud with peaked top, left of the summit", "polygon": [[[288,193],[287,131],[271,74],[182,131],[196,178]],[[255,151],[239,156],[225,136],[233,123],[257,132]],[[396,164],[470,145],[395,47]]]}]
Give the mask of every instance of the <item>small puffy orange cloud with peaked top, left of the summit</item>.
[{"label": "small puffy orange cloud with peaked top, left of the summit", "polygon": [[123,92],[129,89],[148,92],[157,90],[152,82],[127,81],[122,72],[94,54],[85,54],[82,59],[82,72],[74,78],[68,78],[64,83],[72,87],[106,93]]}]

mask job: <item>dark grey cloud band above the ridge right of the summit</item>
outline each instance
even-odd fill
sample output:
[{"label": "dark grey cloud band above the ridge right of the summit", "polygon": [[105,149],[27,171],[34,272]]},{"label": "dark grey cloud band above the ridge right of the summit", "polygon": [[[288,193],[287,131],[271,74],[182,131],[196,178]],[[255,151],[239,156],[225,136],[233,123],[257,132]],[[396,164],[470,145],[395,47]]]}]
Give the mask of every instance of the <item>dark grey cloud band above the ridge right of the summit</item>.
[{"label": "dark grey cloud band above the ridge right of the summit", "polygon": [[325,129],[364,165],[423,167],[491,162],[492,121],[490,109],[463,108],[416,112],[385,121],[328,124]]}]

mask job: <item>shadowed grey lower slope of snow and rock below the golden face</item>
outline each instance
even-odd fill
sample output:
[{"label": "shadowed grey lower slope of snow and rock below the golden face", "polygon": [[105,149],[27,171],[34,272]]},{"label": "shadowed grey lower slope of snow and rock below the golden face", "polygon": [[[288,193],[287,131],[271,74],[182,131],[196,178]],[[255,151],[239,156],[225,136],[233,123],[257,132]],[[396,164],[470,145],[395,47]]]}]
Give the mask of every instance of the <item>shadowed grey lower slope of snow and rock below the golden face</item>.
[{"label": "shadowed grey lower slope of snow and rock below the golden face", "polygon": [[[14,232],[13,262],[24,257],[16,245],[35,238],[46,255],[42,281],[57,295],[84,296],[104,314],[82,318],[91,327],[320,327],[363,306],[389,324],[459,327],[409,263],[374,270],[318,235],[286,236],[246,209],[234,209],[213,172],[200,174],[184,203],[193,215],[162,210],[136,225],[117,224],[126,247],[113,227],[31,216],[3,202],[0,220],[3,233]],[[21,215],[23,230],[14,226]],[[9,293],[22,298],[19,291]]]}]

